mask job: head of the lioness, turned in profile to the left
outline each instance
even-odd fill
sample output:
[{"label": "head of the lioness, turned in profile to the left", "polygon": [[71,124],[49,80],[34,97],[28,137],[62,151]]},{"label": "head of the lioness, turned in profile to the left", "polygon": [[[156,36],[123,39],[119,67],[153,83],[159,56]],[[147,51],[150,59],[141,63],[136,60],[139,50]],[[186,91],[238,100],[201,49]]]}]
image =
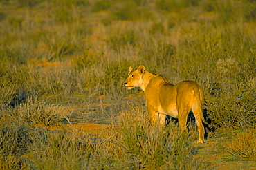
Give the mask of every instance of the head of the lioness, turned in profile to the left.
[{"label": "head of the lioness, turned in profile to the left", "polygon": [[125,86],[130,90],[134,87],[140,87],[143,84],[143,73],[145,73],[145,66],[139,66],[136,70],[129,67],[129,74],[125,79]]}]

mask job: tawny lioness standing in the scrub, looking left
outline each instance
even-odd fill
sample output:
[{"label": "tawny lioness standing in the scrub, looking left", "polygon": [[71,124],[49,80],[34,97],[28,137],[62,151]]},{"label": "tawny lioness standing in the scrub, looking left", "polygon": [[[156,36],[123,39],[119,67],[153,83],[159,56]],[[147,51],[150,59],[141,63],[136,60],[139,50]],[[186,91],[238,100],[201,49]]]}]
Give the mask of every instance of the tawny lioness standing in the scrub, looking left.
[{"label": "tawny lioness standing in the scrub, looking left", "polygon": [[165,125],[166,115],[178,118],[181,130],[185,131],[188,113],[192,111],[199,129],[198,142],[204,143],[203,123],[208,124],[203,117],[203,91],[193,81],[183,81],[173,85],[161,75],[154,75],[139,66],[136,70],[129,67],[125,80],[128,89],[140,87],[145,91],[146,105],[152,124]]}]

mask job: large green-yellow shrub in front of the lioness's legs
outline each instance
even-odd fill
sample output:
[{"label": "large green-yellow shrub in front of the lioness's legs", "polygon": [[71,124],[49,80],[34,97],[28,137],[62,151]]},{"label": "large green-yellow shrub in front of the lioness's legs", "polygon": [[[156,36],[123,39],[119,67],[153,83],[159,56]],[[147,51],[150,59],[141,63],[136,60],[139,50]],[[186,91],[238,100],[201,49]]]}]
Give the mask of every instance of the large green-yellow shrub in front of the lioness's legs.
[{"label": "large green-yellow shrub in front of the lioness's legs", "polygon": [[119,117],[125,148],[123,163],[130,169],[203,169],[193,158],[188,133],[181,133],[173,122],[166,129],[149,126],[141,106],[131,107]]}]

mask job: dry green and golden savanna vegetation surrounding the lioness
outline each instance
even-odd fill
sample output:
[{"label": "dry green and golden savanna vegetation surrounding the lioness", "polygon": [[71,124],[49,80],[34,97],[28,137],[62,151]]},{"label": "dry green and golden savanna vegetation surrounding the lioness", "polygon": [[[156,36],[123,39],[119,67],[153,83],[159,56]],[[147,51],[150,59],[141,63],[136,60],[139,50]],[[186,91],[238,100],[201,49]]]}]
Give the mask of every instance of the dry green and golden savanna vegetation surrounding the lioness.
[{"label": "dry green and golden savanna vegetation surrounding the lioness", "polygon": [[[255,28],[253,0],[0,0],[0,169],[256,167]],[[202,86],[206,144],[149,126],[139,65]]]}]

